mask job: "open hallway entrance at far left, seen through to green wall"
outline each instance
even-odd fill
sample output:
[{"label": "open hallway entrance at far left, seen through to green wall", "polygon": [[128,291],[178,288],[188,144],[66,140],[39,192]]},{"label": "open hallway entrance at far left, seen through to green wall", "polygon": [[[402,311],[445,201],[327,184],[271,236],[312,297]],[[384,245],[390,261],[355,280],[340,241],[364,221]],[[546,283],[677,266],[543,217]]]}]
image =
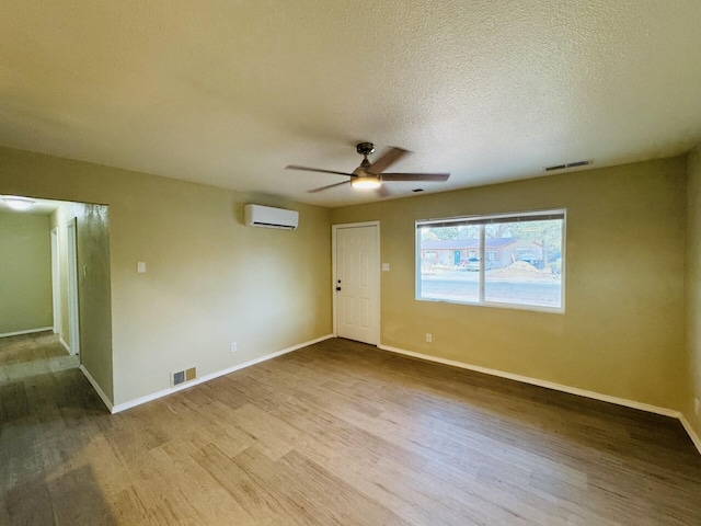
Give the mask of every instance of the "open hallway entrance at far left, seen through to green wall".
[{"label": "open hallway entrance at far left, seen through to green wall", "polygon": [[106,217],[107,207],[31,201],[25,210],[0,201],[0,384],[83,362],[80,306],[91,284],[80,275],[81,258],[94,254],[81,229],[93,208]]}]

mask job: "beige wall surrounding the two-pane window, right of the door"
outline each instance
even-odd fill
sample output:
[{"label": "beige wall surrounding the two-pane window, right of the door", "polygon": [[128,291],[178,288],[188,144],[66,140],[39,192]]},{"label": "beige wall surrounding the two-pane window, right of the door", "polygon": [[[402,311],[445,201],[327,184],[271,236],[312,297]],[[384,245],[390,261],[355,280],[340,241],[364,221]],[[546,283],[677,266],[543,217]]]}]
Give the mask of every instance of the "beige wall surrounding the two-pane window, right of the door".
[{"label": "beige wall surrounding the two-pane window, right of the door", "polygon": [[[381,221],[381,343],[663,408],[685,398],[686,160],[336,208]],[[414,221],[567,209],[564,315],[414,300]],[[425,333],[433,343],[425,342]]]}]

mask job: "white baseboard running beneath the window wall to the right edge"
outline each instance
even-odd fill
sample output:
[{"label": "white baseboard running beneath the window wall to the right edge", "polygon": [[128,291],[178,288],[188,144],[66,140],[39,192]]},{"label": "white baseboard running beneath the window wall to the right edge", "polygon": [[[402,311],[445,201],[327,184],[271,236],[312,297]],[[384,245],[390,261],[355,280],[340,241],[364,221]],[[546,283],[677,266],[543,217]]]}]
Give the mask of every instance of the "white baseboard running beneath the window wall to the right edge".
[{"label": "white baseboard running beneath the window wall to the right edge", "polygon": [[694,433],[693,428],[685,418],[683,413],[680,411],[676,411],[674,409],[659,408],[657,405],[652,405],[650,403],[636,402],[635,400],[629,400],[627,398],[611,397],[609,395],[602,395],[596,391],[588,391],[586,389],[579,389],[577,387],[564,386],[562,384],[555,384],[553,381],[540,380],[538,378],[531,378],[528,376],[515,375],[513,373],[505,373],[498,369],[491,369],[489,367],[481,367],[479,365],[466,364],[463,362],[457,362],[455,359],[440,358],[437,356],[430,356],[429,354],[415,353],[413,351],[406,351],[399,347],[392,347],[390,345],[378,345],[378,348],[382,351],[389,351],[391,353],[403,354],[404,356],[411,356],[413,358],[425,359],[427,362],[435,362],[437,364],[450,365],[452,367],[460,367],[461,369],[474,370],[476,373],[483,373],[485,375],[497,376],[499,378],[507,378],[509,380],[516,380],[524,384],[530,384],[532,386],[544,387],[547,389],[553,389],[555,391],[567,392],[570,395],[576,395],[578,397],[590,398],[593,400],[599,400],[601,402],[614,403],[617,405],[623,405],[625,408],[639,409],[641,411],[646,411],[648,413],[662,414],[664,416],[670,416],[673,419],[678,419],[683,425],[683,428],[689,434],[691,442],[701,454],[701,439]]}]

